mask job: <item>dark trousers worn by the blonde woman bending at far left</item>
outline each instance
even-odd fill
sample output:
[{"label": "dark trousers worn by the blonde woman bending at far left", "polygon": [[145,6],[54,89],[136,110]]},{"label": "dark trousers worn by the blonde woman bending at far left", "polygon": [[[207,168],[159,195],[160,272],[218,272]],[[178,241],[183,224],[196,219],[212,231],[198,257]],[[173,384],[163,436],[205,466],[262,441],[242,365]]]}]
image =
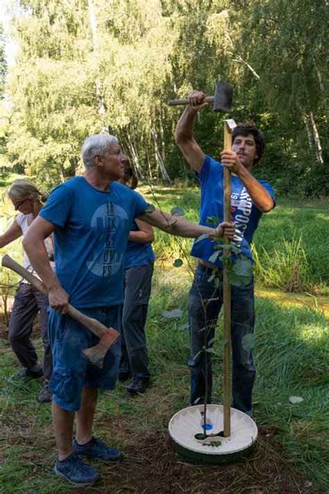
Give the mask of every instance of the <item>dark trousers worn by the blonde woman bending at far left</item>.
[{"label": "dark trousers worn by the blonde woman bending at far left", "polygon": [[37,353],[30,340],[33,322],[40,311],[41,336],[44,345],[43,372],[50,379],[53,372],[53,358],[48,340],[48,298],[27,283],[21,283],[15,294],[10,316],[8,336],[14,351],[23,367],[31,368],[37,363]]}]

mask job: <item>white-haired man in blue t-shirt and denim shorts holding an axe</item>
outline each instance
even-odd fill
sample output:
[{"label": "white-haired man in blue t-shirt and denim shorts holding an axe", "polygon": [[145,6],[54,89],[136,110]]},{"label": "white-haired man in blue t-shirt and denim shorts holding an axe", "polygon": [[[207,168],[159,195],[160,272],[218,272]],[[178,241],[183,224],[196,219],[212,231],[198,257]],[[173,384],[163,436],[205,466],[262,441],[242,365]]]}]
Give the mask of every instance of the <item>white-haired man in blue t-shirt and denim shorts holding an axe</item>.
[{"label": "white-haired man in blue t-shirt and denim shorts holding an axe", "polygon": [[[114,136],[85,139],[81,149],[86,173],[60,184],[33,222],[24,249],[49,292],[49,341],[53,352],[53,426],[58,458],[56,475],[87,486],[99,474],[78,456],[119,461],[121,452],[92,436],[98,390],[115,388],[120,358],[118,341],[106,353],[103,369],[87,362],[83,350],[99,340],[67,315],[68,302],[105,326],[120,327],[124,301],[124,254],[135,218],[180,237],[233,238],[235,225],[217,228],[194,225],[183,218],[146,212],[142,196],[115,182],[124,176],[126,156]],[[167,223],[167,225],[166,225]],[[51,270],[44,239],[53,232],[56,275]],[[76,437],[72,443],[74,415]]]}]

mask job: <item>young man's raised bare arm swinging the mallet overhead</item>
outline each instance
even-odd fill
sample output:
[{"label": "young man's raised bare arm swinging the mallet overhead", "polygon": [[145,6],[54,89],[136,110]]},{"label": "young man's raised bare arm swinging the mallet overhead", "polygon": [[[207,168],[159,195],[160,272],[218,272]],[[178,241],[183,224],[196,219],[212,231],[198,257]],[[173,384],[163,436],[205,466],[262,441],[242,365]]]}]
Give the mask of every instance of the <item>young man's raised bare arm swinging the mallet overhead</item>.
[{"label": "young man's raised bare arm swinging the mallet overhead", "polygon": [[208,103],[203,103],[204,97],[205,93],[201,91],[192,91],[189,94],[189,106],[180,116],[175,131],[176,143],[187,159],[189,166],[197,173],[201,172],[205,154],[193,137],[193,126],[198,111],[208,105]]}]

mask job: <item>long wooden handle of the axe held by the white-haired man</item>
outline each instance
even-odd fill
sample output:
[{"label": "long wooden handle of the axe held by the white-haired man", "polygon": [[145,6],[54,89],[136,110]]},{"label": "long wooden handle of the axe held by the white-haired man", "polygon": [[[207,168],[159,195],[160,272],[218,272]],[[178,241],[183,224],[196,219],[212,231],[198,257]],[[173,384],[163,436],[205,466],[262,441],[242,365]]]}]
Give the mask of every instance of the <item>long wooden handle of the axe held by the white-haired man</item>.
[{"label": "long wooden handle of the axe held by the white-haired man", "polygon": [[[44,296],[48,297],[47,288],[44,286],[41,280],[36,278],[32,273],[27,271],[23,266],[18,264],[18,262],[14,261],[9,255],[4,255],[2,257],[2,263],[4,267],[12,269],[15,273],[18,273],[20,276],[23,276],[33,287],[35,287],[39,292],[41,292]],[[120,333],[114,328],[106,328],[103,324],[92,317],[87,317],[85,314],[80,312],[78,309],[74,308],[73,305],[69,304],[68,314],[72,319],[75,319],[80,324],[89,329],[94,335],[99,338],[103,337],[106,333],[111,333],[113,343],[115,343],[120,335]]]}]

